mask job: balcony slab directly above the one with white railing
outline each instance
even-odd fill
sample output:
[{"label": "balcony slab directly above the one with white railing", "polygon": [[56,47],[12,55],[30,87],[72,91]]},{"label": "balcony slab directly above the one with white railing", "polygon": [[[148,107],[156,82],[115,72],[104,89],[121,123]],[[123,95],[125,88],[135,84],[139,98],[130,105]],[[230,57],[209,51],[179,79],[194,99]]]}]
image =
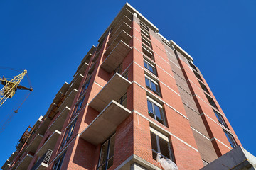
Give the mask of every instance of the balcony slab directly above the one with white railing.
[{"label": "balcony slab directly above the one with white railing", "polygon": [[47,152],[48,149],[53,150],[56,144],[56,141],[58,140],[58,137],[61,135],[61,132],[58,130],[55,130],[52,135],[46,140],[46,142],[43,144],[43,146],[36,152],[36,155],[38,157],[42,157],[44,153]]}]

